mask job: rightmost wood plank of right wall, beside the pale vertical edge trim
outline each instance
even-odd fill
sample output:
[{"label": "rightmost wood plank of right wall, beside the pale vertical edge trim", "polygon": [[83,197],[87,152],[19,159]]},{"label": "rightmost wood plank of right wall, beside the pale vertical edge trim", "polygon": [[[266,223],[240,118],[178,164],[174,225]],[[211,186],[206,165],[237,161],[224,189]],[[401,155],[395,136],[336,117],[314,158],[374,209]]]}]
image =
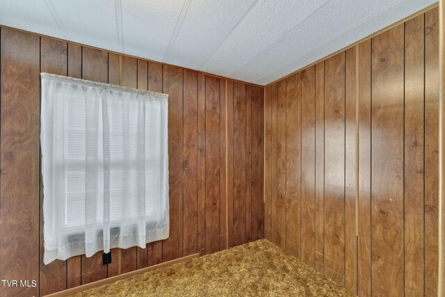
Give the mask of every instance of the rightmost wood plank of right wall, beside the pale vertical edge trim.
[{"label": "rightmost wood plank of right wall, beside the pale vertical edge trim", "polygon": [[425,296],[437,296],[439,10],[425,13]]}]

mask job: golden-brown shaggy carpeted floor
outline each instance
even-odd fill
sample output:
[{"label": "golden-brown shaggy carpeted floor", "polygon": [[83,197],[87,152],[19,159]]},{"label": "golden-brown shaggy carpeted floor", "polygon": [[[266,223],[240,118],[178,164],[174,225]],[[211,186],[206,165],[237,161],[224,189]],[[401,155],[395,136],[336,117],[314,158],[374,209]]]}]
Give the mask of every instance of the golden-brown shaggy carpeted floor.
[{"label": "golden-brown shaggy carpeted floor", "polygon": [[80,296],[354,296],[259,240],[118,280]]}]

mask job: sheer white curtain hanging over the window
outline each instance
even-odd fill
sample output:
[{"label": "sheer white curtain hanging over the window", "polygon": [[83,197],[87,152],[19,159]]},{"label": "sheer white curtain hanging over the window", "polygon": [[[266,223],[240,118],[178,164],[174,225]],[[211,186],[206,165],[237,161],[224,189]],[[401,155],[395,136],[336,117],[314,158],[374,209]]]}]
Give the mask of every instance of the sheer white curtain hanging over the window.
[{"label": "sheer white curtain hanging over the window", "polygon": [[168,95],[41,81],[44,264],[166,239]]}]

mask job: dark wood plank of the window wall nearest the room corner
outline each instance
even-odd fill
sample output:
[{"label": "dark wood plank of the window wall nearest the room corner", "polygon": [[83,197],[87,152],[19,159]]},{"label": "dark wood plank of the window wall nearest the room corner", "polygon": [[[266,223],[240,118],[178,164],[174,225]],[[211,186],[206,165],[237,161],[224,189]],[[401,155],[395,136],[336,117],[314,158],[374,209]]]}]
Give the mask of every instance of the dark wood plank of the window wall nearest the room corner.
[{"label": "dark wood plank of the window wall nearest the room corner", "polygon": [[262,205],[263,197],[261,195],[261,88],[252,87],[252,177],[248,184],[252,184],[252,224],[251,240],[263,238],[262,236]]}]

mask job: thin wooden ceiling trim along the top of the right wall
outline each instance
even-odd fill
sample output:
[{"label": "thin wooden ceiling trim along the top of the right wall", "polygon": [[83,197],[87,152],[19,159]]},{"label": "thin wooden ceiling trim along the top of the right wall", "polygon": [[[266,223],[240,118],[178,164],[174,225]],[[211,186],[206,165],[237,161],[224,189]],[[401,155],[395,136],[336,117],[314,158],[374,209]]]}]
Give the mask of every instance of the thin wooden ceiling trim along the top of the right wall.
[{"label": "thin wooden ceiling trim along the top of the right wall", "polygon": [[432,8],[436,8],[438,6],[439,6],[439,2],[433,3],[430,6],[427,6],[426,8],[423,8],[422,10],[419,10],[418,12],[413,13],[412,15],[408,15],[407,17],[401,19],[398,22],[395,22],[394,24],[386,26],[385,28],[380,29],[377,32],[374,32],[371,35],[368,35],[368,36],[366,36],[366,37],[364,37],[364,38],[362,38],[360,40],[357,40],[356,42],[354,42],[354,43],[352,43],[352,44],[350,44],[350,45],[348,45],[346,47],[343,47],[343,48],[339,49],[338,51],[334,51],[332,54],[324,56],[323,58],[319,58],[317,61],[314,61],[314,62],[312,62],[312,63],[310,63],[310,64],[308,64],[308,65],[306,65],[304,67],[301,67],[298,70],[295,70],[295,71],[293,71],[293,72],[291,72],[289,74],[286,74],[286,75],[284,75],[284,77],[280,77],[280,79],[275,79],[275,81],[272,81],[272,82],[270,82],[270,83],[268,83],[266,85],[259,85],[259,86],[264,86],[264,88],[266,88],[268,86],[272,86],[274,83],[277,83],[278,81],[281,81],[282,79],[286,79],[288,77],[293,76],[294,74],[297,74],[298,72],[302,72],[302,70],[305,70],[305,69],[307,69],[309,67],[312,67],[312,66],[314,66],[314,65],[316,65],[316,64],[318,64],[320,62],[323,62],[323,61],[327,60],[328,58],[331,58],[331,57],[333,57],[333,56],[335,56],[337,54],[340,54],[342,51],[346,51],[347,49],[350,49],[351,47],[355,47],[356,45],[359,45],[360,43],[362,43],[362,42],[364,42],[366,40],[370,40],[371,38],[373,38],[373,37],[375,37],[375,36],[385,32],[385,31],[391,30],[394,27],[409,21],[410,19],[414,19],[414,17],[418,17],[419,15],[423,15],[423,13],[426,13],[428,10],[432,10]]}]

